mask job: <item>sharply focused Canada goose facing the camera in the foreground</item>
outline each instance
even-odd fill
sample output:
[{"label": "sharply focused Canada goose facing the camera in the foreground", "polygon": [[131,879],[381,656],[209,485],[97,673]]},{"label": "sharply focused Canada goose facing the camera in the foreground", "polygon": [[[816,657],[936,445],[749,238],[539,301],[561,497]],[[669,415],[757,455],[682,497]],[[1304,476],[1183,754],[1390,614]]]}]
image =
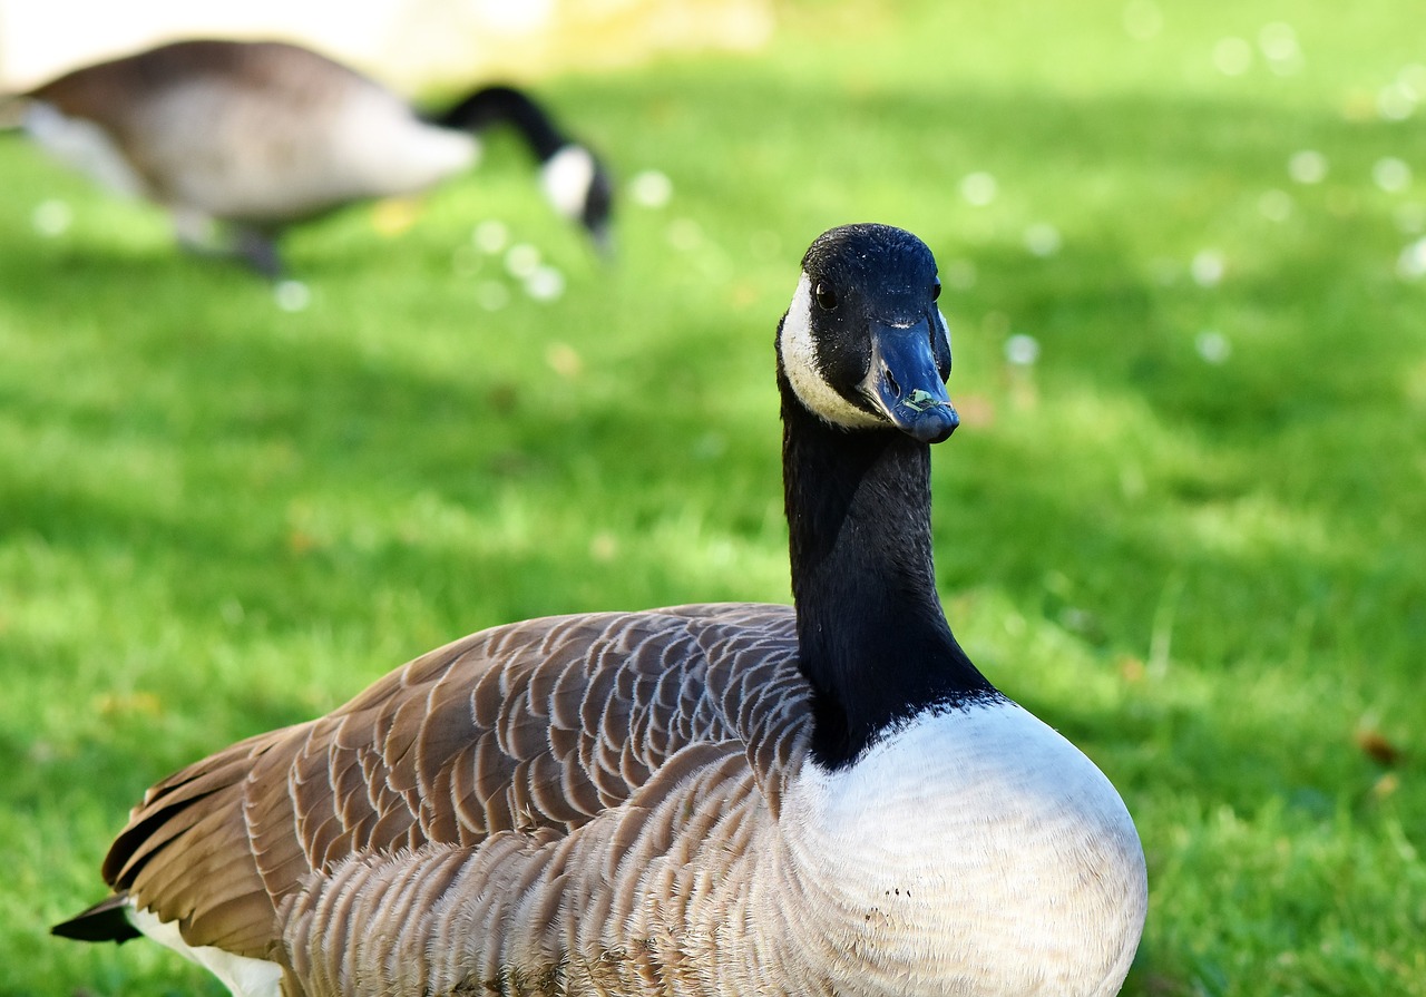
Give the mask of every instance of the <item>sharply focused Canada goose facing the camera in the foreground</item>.
[{"label": "sharply focused Canada goose facing the camera in the foreground", "polygon": [[157,786],[116,893],[241,997],[1107,996],[1144,853],[935,592],[951,352],[930,250],[817,238],[777,332],[796,609],[498,626]]}]

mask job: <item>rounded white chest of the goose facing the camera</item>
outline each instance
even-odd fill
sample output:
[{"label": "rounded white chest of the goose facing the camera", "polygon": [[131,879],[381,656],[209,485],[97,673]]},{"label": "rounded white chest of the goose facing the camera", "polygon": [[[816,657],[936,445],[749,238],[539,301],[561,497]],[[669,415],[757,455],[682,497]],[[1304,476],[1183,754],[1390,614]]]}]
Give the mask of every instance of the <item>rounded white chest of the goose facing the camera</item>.
[{"label": "rounded white chest of the goose facing the camera", "polygon": [[1101,997],[1138,946],[1122,800],[1012,703],[923,715],[841,772],[809,765],[783,824],[826,907],[809,958],[838,993]]}]

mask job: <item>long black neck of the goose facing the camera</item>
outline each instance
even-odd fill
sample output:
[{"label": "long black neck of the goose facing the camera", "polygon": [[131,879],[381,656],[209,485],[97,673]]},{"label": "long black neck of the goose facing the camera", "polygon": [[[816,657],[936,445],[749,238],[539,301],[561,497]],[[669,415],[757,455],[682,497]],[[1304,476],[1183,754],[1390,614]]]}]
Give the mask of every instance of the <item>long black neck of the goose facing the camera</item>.
[{"label": "long black neck of the goose facing the camera", "polygon": [[833,428],[781,374],[779,385],[813,753],[838,767],[898,720],[994,689],[955,642],[935,592],[930,446],[894,429]]}]

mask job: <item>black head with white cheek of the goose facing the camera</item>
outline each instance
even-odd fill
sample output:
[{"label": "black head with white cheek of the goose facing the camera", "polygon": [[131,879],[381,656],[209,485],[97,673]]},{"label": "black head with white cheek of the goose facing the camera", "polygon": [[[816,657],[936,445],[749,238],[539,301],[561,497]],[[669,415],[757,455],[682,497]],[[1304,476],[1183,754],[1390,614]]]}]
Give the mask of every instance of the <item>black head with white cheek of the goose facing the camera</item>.
[{"label": "black head with white cheek of the goose facing the camera", "polygon": [[923,444],[960,424],[945,394],[951,338],[935,258],[911,232],[843,225],[803,257],[779,325],[779,375],[823,422],[894,429]]}]

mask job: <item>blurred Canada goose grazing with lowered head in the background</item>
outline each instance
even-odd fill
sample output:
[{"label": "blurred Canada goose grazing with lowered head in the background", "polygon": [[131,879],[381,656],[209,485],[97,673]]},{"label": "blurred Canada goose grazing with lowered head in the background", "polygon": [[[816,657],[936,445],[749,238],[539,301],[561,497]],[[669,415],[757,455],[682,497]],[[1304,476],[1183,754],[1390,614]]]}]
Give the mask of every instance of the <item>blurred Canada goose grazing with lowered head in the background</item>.
[{"label": "blurred Canada goose grazing with lowered head in the background", "polygon": [[515,126],[546,195],[600,245],[610,183],[523,93],[488,87],[421,117],[381,84],[278,41],[178,41],[74,70],[19,97],[44,148],[108,187],[168,208],[201,248],[212,221],[264,274],[275,235],[352,201],[411,194],[475,165],[475,133]]}]

